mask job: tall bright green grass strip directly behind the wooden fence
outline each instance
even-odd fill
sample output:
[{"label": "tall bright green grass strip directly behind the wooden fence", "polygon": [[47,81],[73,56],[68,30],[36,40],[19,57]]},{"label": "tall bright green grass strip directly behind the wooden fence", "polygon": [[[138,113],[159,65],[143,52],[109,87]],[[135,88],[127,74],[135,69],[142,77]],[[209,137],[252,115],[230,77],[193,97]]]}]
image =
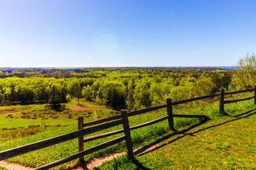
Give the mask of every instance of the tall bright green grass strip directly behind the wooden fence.
[{"label": "tall bright green grass strip directly behind the wooden fence", "polygon": [[[219,113],[218,101],[205,106],[201,106],[198,103],[198,106],[199,107],[188,108],[186,110],[174,109],[174,113],[208,115],[209,118],[211,119],[215,119],[223,115]],[[226,111],[225,114],[230,114],[235,111],[243,111],[247,108],[253,108],[253,107],[254,107],[254,104],[252,100],[242,101],[239,103],[231,103],[231,104],[225,105],[225,111]],[[129,123],[130,123],[130,126],[138,125],[140,123],[145,123],[149,120],[161,118],[166,114],[167,114],[166,109],[161,109],[159,111],[153,111],[150,113],[144,113],[142,115],[129,117]],[[199,122],[200,120],[196,118],[174,118],[174,127],[180,128],[186,125],[196,125],[196,123],[199,123]],[[76,123],[73,125],[68,125],[66,127],[50,126],[46,129],[43,129],[42,132],[37,132],[34,135],[28,135],[26,137],[21,137],[18,139],[16,139],[15,137],[3,137],[1,138],[0,142],[3,143],[4,145],[0,146],[0,150],[10,149],[10,148],[21,146],[21,145],[26,145],[31,142],[36,142],[38,140],[47,139],[49,137],[54,137],[57,135],[68,133],[68,132],[73,132],[78,129],[77,126],[78,125]],[[122,128],[122,125],[119,125],[119,127],[110,128],[109,130],[102,130],[92,135],[100,134],[102,132],[110,132],[112,130],[117,130],[121,128]],[[169,133],[172,133],[172,131],[169,129],[167,120],[161,123],[150,125],[145,128],[132,130],[131,134],[132,134],[133,147],[139,148],[145,145],[149,145],[152,142],[156,141],[157,139],[161,139],[161,137],[164,137],[166,136],[166,134],[169,134]],[[112,137],[106,137],[104,139],[95,140],[92,142],[87,142],[85,143],[85,149],[98,145],[107,140],[114,139],[115,137],[119,137],[121,135],[122,134],[114,135]],[[93,154],[89,154],[85,156],[85,160],[89,162],[90,159],[93,159],[95,157],[105,157],[107,155],[114,154],[117,152],[123,152],[125,150],[126,150],[126,145],[124,142],[121,142],[112,147],[108,147],[106,149],[102,149]],[[58,159],[62,159],[63,157],[68,157],[69,155],[75,154],[76,152],[78,152],[77,139],[70,140],[68,142],[63,142],[58,145],[46,147],[44,149],[39,149],[38,151],[35,151],[35,152],[31,152],[28,154],[23,154],[21,156],[11,158],[9,159],[9,162],[18,162],[25,166],[36,167],[36,166],[42,166],[44,164],[48,164],[50,162],[54,162]],[[68,164],[60,165],[55,169],[63,169],[65,167],[68,167],[72,164],[77,164],[77,163],[78,163],[78,160],[74,160],[73,162],[69,162]]]}]

